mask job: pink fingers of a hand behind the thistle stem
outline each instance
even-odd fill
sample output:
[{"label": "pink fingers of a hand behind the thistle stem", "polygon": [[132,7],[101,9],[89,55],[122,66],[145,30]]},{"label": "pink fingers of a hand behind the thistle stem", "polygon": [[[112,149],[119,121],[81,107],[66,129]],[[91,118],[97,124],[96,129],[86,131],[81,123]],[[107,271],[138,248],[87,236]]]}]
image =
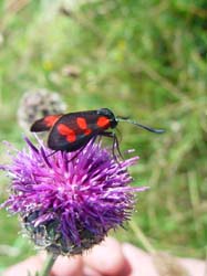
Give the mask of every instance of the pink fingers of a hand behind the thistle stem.
[{"label": "pink fingers of a hand behind the thistle stem", "polygon": [[[28,270],[40,270],[44,254],[32,256],[3,273],[2,276],[27,276]],[[189,258],[176,258],[186,270],[186,275],[204,276],[205,262]],[[127,243],[121,244],[107,237],[92,251],[75,257],[60,256],[52,267],[50,276],[158,276],[153,256]],[[183,275],[183,274],[182,274]]]}]

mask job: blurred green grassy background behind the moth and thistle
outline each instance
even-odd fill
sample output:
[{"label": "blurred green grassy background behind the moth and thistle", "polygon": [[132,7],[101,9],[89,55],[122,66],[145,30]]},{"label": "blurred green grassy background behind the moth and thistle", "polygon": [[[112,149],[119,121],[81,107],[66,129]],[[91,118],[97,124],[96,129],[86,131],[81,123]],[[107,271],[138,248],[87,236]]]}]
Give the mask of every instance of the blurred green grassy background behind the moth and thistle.
[{"label": "blurred green grassy background behind the moth and thistle", "polygon": [[[205,258],[207,2],[0,1],[0,140],[23,146],[20,98],[40,87],[58,92],[69,112],[108,107],[167,130],[157,136],[120,124],[122,151],[135,148],[141,157],[134,184],[151,190],[115,235]],[[1,144],[1,163],[6,151]],[[1,173],[0,202],[8,184]],[[0,269],[34,254],[19,232],[18,219],[1,210]]]}]

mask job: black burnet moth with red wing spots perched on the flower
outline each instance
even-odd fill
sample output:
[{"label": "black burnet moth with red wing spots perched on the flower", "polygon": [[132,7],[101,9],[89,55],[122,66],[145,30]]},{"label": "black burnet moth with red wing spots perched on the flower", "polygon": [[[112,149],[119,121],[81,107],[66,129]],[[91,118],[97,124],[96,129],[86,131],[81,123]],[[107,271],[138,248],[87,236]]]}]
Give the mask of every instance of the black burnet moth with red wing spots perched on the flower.
[{"label": "black burnet moth with red wing spots perched on the flower", "polygon": [[55,151],[75,151],[85,147],[91,139],[97,136],[113,138],[113,145],[117,145],[118,149],[116,135],[108,131],[108,129],[115,128],[120,121],[133,124],[155,134],[164,132],[163,129],[155,129],[130,118],[115,116],[108,108],[64,115],[48,115],[34,121],[30,130],[32,132],[50,130],[48,146]]}]

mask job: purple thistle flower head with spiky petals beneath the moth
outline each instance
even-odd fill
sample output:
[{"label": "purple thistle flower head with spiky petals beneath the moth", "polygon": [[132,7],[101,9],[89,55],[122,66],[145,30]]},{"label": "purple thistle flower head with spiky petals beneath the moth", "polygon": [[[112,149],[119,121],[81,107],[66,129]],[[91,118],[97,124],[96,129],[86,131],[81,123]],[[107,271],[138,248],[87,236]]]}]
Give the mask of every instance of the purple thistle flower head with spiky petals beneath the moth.
[{"label": "purple thistle flower head with spiky petals beneath the moth", "polygon": [[25,138],[11,164],[0,166],[11,178],[9,199],[1,205],[17,213],[35,245],[63,255],[81,254],[99,244],[112,229],[130,220],[134,192],[127,168],[138,157],[117,162],[91,141],[75,152],[52,150]]}]

